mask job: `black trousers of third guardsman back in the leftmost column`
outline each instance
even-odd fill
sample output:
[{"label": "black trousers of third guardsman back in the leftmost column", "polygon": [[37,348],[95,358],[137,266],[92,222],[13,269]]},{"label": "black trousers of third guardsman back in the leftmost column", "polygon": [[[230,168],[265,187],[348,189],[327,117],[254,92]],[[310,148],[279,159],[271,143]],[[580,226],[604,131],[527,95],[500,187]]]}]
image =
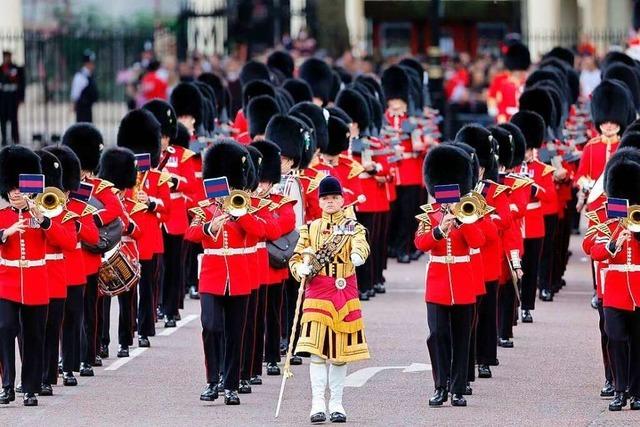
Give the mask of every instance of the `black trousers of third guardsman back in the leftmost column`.
[{"label": "black trousers of third guardsman back in the leftmost column", "polygon": [[84,317],[84,285],[68,286],[62,319],[62,370],[80,370],[80,342]]}]

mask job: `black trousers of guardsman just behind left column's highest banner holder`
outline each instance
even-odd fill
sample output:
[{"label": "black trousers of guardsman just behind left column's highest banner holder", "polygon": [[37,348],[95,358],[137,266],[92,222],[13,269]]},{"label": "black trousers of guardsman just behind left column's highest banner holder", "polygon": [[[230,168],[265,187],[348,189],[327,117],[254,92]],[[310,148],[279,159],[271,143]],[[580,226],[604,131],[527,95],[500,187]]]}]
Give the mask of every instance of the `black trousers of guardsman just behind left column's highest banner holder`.
[{"label": "black trousers of guardsman just behind left column's highest banner holder", "polygon": [[182,264],[182,235],[162,232],[164,237],[164,275],[162,279],[162,310],[165,316],[178,315],[180,298],[184,293],[182,282],[184,268]]}]

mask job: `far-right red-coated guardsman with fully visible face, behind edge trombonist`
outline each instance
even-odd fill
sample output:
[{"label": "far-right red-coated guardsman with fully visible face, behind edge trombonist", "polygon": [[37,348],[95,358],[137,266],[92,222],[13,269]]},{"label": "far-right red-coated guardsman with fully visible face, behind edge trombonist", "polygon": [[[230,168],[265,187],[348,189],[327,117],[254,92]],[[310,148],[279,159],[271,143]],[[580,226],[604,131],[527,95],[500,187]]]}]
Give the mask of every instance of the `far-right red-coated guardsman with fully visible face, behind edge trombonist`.
[{"label": "far-right red-coated guardsman with fully visible face, behind edge trombonist", "polygon": [[631,94],[619,81],[604,80],[594,89],[591,116],[600,135],[584,146],[578,171],[574,175],[575,185],[580,190],[580,210],[607,162],[618,149],[620,135],[633,120],[632,113]]}]

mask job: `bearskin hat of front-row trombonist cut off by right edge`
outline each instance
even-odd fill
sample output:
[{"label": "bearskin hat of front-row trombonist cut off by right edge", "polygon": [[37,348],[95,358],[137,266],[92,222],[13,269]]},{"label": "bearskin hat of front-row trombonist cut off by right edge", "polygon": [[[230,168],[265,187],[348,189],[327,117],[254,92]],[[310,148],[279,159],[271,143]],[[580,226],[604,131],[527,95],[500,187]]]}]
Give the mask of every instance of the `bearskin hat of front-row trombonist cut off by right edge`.
[{"label": "bearskin hat of front-row trombonist cut off by right edge", "polygon": [[611,156],[604,172],[607,197],[627,199],[630,205],[640,204],[640,152],[623,148]]}]

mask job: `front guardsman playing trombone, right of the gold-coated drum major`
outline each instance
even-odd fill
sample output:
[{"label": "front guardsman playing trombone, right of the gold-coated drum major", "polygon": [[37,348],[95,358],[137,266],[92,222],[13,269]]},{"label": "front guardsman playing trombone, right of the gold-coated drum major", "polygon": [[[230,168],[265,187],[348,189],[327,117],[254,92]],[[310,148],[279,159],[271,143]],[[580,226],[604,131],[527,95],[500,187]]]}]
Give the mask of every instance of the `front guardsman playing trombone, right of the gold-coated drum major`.
[{"label": "front guardsman playing trombone, right of the gold-coated drum major", "polygon": [[[473,185],[472,159],[462,149],[442,145],[425,160],[425,183],[435,197],[436,186],[457,184],[461,194]],[[423,207],[415,236],[416,247],[430,252],[426,292],[429,338],[427,347],[433,365],[435,393],[429,406],[441,406],[452,394],[453,406],[466,406],[463,394],[467,367],[473,304],[476,293],[468,285],[472,277],[471,249],[484,244],[477,224],[461,224],[448,206],[435,203]],[[448,389],[448,383],[449,389]]]}]

